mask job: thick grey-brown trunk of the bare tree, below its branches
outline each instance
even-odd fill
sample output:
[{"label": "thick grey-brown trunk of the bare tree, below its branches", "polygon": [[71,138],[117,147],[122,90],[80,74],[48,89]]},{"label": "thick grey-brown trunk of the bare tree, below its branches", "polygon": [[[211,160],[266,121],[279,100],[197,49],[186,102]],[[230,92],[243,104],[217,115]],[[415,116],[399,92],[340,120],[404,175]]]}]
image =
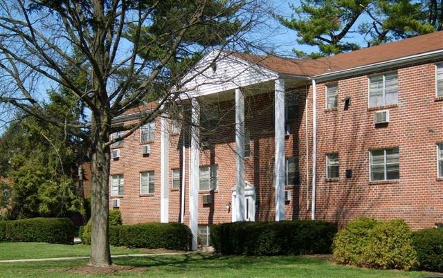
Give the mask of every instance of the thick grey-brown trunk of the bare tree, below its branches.
[{"label": "thick grey-brown trunk of the bare tree, below its branches", "polygon": [[91,259],[90,266],[110,266],[109,251],[109,146],[102,132],[92,134],[91,147]]}]

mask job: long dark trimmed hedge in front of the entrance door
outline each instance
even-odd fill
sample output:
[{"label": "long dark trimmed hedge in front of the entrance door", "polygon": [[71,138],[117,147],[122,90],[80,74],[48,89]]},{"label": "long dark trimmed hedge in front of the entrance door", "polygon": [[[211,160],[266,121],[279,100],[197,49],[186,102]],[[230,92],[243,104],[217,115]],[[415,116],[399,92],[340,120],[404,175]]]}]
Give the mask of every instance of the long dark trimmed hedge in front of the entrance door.
[{"label": "long dark trimmed hedge in front of the entrance door", "polygon": [[213,225],[210,237],[221,254],[328,254],[336,232],[324,221],[235,222]]}]

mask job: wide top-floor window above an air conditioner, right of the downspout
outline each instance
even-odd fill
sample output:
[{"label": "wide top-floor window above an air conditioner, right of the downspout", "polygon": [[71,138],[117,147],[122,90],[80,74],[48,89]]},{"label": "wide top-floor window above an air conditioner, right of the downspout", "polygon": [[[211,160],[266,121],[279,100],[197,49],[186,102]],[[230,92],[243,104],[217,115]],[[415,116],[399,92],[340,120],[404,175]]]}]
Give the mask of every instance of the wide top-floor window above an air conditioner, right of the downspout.
[{"label": "wide top-floor window above an air conditioner, right of the downspout", "polygon": [[397,104],[397,73],[372,76],[369,78],[369,106]]}]

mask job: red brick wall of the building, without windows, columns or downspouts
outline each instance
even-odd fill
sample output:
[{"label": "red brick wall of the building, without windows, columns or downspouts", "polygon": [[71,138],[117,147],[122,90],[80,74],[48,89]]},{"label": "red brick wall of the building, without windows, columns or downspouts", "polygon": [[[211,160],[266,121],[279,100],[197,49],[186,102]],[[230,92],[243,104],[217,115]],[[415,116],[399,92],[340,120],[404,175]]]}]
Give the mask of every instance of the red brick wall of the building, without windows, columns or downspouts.
[{"label": "red brick wall of the building, without windows, columns or downspouts", "polygon": [[[435,67],[423,64],[398,70],[399,104],[391,107],[390,123],[374,127],[368,109],[367,76],[338,81],[338,109],[325,111],[325,84],[317,85],[317,219],[343,225],[356,216],[377,219],[403,218],[414,228],[432,227],[443,222],[443,181],[438,181],[435,143],[443,141],[443,102],[435,101]],[[286,204],[287,219],[309,219],[307,209],[306,160],[309,163],[309,199],[312,165],[312,90],[307,86],[300,98],[300,119],[291,122],[291,136],[285,138],[285,156],[299,156],[300,185],[289,186],[292,201]],[[291,89],[287,89],[294,94]],[[343,98],[352,104],[343,110]],[[275,218],[273,187],[273,92],[246,93],[246,129],[251,133],[251,157],[246,158],[246,181],[255,185],[257,201],[255,220]],[[223,122],[217,129],[214,144],[200,152],[200,165],[217,164],[219,187],[211,205],[199,199],[199,223],[229,222],[232,188],[235,186],[235,111],[233,98],[220,102]],[[308,112],[308,113],[306,113]],[[308,117],[306,129],[305,120]],[[306,158],[306,133],[309,157]],[[160,121],[156,120],[156,139],[152,153],[141,155],[139,133],[125,140],[120,159],[111,162],[111,174],[125,174],[125,194],[120,201],[124,223],[160,221]],[[170,169],[181,168],[181,136],[170,138]],[[370,149],[399,147],[400,180],[398,183],[369,182]],[[325,180],[325,154],[338,152],[340,178]],[[189,149],[186,148],[185,221],[189,221]],[[345,178],[352,169],[352,178]],[[155,193],[140,196],[139,173],[155,172]],[[170,173],[169,173],[170,175]],[[172,180],[170,180],[172,183]],[[180,190],[170,188],[170,221],[179,221]],[[208,194],[201,192],[199,195]],[[310,207],[311,203],[309,203]]]}]

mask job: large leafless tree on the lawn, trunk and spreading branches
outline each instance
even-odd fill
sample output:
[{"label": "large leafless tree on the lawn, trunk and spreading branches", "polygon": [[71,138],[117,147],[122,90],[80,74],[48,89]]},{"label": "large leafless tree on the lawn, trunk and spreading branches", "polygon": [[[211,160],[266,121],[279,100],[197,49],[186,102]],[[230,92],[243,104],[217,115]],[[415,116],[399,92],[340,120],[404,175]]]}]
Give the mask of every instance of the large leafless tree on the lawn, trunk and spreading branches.
[{"label": "large leafless tree on the lawn, trunk and spreading branches", "polygon": [[[110,145],[172,113],[177,100],[188,98],[192,86],[186,84],[206,70],[184,75],[199,55],[213,48],[253,48],[245,34],[262,20],[263,5],[257,2],[0,0],[1,118],[19,109],[91,147],[92,266],[111,264]],[[73,71],[84,76],[85,84],[76,84]],[[44,109],[46,90],[61,86],[86,107],[89,120],[69,120]],[[152,100],[156,104],[141,111],[138,121],[111,124],[118,115]],[[125,132],[114,138],[116,131]]]}]

